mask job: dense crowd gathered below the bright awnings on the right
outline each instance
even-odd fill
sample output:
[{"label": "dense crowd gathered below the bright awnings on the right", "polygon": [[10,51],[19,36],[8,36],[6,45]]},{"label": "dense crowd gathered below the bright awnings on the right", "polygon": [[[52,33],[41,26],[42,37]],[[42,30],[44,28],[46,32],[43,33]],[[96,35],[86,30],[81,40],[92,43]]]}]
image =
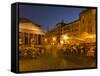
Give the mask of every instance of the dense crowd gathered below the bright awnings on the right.
[{"label": "dense crowd gathered below the bright awnings on the right", "polygon": [[96,47],[94,44],[82,43],[79,45],[64,44],[59,50],[59,54],[65,56],[91,56],[95,57]]}]

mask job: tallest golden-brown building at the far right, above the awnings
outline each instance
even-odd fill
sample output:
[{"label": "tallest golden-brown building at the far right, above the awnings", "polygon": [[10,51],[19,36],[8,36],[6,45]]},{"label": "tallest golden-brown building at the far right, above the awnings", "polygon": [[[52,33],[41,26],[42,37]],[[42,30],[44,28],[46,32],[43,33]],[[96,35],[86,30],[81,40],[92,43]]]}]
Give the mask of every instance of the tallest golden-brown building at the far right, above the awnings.
[{"label": "tallest golden-brown building at the far right, above the awnings", "polygon": [[96,33],[96,9],[88,9],[80,13],[80,33]]}]

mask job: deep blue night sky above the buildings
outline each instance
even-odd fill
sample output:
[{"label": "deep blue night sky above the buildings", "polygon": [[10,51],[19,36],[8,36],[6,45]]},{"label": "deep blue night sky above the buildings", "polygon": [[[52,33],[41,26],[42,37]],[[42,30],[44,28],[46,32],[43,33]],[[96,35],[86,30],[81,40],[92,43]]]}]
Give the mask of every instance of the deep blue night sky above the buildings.
[{"label": "deep blue night sky above the buildings", "polygon": [[64,23],[70,23],[79,19],[80,12],[85,9],[76,7],[20,5],[19,17],[27,18],[33,23],[35,22],[47,31],[55,27],[59,22],[64,21]]}]

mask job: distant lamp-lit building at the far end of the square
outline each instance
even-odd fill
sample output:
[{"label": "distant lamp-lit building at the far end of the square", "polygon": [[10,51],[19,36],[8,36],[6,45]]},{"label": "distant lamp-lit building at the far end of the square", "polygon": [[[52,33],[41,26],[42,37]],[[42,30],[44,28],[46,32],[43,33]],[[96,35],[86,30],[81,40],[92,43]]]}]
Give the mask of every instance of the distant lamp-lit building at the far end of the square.
[{"label": "distant lamp-lit building at the far end of the square", "polygon": [[64,32],[63,27],[65,25],[66,25],[65,23],[60,22],[56,24],[55,28],[53,28],[52,30],[49,30],[45,35],[46,43],[47,44],[60,44],[61,35]]}]

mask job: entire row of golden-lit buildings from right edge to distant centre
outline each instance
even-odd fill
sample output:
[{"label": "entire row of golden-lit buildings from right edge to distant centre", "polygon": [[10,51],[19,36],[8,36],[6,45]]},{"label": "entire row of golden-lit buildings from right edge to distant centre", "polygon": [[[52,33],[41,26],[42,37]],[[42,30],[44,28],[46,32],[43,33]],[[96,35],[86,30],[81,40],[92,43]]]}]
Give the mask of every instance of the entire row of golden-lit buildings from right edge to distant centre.
[{"label": "entire row of golden-lit buildings from right edge to distant centre", "polygon": [[[80,13],[80,18],[71,23],[63,22],[46,33],[46,42],[49,44],[59,44],[63,38],[82,39],[86,35],[96,35],[96,9],[86,9]],[[67,37],[66,37],[67,36]],[[96,40],[96,39],[95,39]],[[94,40],[94,41],[95,41]],[[63,41],[61,42],[63,43]]]}]

